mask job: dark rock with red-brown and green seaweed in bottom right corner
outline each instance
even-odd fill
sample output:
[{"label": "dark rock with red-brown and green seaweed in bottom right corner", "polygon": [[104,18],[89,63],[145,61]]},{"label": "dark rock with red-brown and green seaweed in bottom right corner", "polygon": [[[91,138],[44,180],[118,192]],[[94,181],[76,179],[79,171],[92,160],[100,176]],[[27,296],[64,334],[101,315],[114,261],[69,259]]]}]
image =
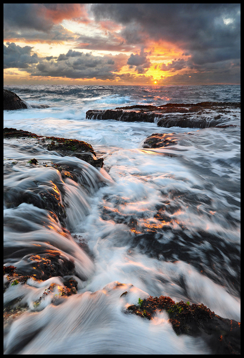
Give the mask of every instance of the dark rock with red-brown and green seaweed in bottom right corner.
[{"label": "dark rock with red-brown and green seaweed in bottom right corner", "polygon": [[127,311],[146,319],[152,319],[156,310],[168,313],[176,334],[201,337],[212,354],[240,354],[241,323],[222,318],[211,312],[203,304],[180,301],[175,303],[170,297],[160,296],[145,300],[139,298],[138,305],[127,307]]}]

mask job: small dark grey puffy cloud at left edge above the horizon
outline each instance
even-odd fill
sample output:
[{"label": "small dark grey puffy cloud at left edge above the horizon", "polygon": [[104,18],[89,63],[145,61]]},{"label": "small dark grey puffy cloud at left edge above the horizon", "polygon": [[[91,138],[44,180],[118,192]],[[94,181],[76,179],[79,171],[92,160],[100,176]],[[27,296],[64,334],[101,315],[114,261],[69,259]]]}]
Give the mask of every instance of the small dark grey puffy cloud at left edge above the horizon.
[{"label": "small dark grey puffy cloud at left edge above the horizon", "polygon": [[31,46],[21,47],[14,43],[3,45],[3,68],[28,68],[31,64],[38,63],[38,55],[31,54],[32,48]]}]

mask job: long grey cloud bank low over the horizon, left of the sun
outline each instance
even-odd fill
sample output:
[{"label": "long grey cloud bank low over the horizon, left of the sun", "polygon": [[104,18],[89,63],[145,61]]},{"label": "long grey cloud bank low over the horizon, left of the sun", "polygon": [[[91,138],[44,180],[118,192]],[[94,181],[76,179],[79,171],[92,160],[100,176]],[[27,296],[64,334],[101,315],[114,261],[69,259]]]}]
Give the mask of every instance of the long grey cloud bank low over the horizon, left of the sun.
[{"label": "long grey cloud bank low over the horizon, left of the sun", "polygon": [[123,53],[94,56],[91,52],[72,49],[58,57],[39,57],[36,53],[32,54],[32,48],[14,43],[3,45],[4,68],[25,69],[31,76],[113,80],[128,60],[128,56]]}]

